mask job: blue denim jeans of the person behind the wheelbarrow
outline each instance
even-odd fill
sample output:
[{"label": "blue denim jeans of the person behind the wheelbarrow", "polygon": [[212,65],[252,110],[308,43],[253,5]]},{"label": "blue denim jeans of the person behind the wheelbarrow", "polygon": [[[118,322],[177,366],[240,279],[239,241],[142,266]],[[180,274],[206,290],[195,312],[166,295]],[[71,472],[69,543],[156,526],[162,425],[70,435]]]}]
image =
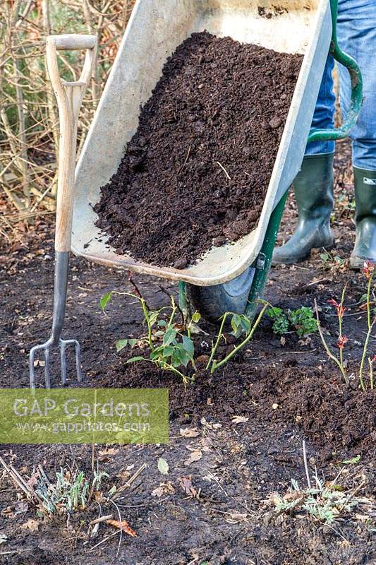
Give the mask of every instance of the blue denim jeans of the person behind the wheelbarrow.
[{"label": "blue denim jeans of the person behind the wheelbarrow", "polygon": [[[360,66],[364,83],[364,102],[358,121],[350,132],[353,145],[353,165],[376,170],[376,1],[339,0],[339,47],[351,55]],[[334,127],[332,70],[334,60],[327,59],[317,97],[313,128]],[[343,119],[351,100],[351,81],[347,69],[339,65],[339,100]],[[334,153],[334,141],[308,143],[305,155]]]}]

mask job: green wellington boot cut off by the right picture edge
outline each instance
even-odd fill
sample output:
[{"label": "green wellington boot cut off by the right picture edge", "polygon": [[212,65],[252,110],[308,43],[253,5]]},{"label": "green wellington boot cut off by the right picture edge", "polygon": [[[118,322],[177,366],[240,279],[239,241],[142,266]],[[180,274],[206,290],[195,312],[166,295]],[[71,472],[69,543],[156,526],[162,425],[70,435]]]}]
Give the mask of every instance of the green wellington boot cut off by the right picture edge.
[{"label": "green wellington boot cut off by the right picture edge", "polygon": [[356,239],[350,257],[352,268],[366,259],[376,262],[376,171],[354,167]]}]

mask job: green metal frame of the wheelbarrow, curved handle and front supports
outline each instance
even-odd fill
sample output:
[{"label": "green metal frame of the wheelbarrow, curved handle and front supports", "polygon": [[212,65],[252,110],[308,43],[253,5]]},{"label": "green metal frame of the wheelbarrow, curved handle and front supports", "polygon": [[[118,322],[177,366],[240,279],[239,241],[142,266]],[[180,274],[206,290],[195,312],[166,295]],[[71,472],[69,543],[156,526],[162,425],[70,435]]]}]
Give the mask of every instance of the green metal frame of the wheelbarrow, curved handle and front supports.
[{"label": "green metal frame of the wheelbarrow, curved handle and front supports", "polygon": [[[307,143],[311,143],[313,141],[336,141],[348,136],[351,128],[354,124],[356,124],[363,102],[363,79],[358,63],[355,59],[353,59],[353,57],[343,52],[338,44],[336,35],[338,0],[330,0],[330,8],[332,13],[332,41],[329,47],[329,53],[336,61],[339,62],[339,64],[346,66],[350,73],[351,106],[348,111],[346,121],[341,127],[338,129],[314,129],[310,132]],[[262,295],[262,290],[264,289],[267,281],[267,275],[272,262],[274,245],[277,239],[277,233],[279,231],[279,225],[281,224],[281,218],[284,212],[288,193],[289,191],[286,190],[285,194],[281,197],[279,203],[274,208],[272,215],[270,215],[265,239],[259,255],[259,258],[262,257],[262,261],[257,258],[255,263],[251,266],[255,269],[255,274],[253,276],[252,285],[248,295],[248,306],[245,309],[245,314],[250,319],[255,316],[255,312],[257,311],[257,306]],[[179,302],[181,302],[181,307],[186,309],[186,283],[179,283]]]}]

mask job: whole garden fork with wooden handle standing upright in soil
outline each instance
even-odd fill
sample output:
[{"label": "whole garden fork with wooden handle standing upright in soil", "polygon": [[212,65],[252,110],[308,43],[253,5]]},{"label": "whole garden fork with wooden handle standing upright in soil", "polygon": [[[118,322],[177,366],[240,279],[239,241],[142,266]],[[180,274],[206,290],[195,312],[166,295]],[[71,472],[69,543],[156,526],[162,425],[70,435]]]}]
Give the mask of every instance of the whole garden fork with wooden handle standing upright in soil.
[{"label": "whole garden fork with wooden handle standing upright in soil", "polygon": [[[57,60],[57,51],[59,49],[86,49],[83,71],[78,81],[68,83],[61,80]],[[66,310],[69,252],[71,251],[78,114],[85,90],[92,75],[96,52],[97,37],[95,35],[50,35],[47,37],[47,68],[58,102],[60,120],[59,176],[55,228],[54,314],[49,340],[42,343],[42,345],[35,345],[30,350],[30,388],[35,388],[34,360],[35,353],[39,350],[44,350],[44,379],[46,388],[51,387],[49,353],[54,347],[60,348],[61,383],[66,383],[66,347],[68,345],[75,346],[77,379],[78,381],[82,379],[80,344],[76,340],[61,339],[61,331]]]}]

